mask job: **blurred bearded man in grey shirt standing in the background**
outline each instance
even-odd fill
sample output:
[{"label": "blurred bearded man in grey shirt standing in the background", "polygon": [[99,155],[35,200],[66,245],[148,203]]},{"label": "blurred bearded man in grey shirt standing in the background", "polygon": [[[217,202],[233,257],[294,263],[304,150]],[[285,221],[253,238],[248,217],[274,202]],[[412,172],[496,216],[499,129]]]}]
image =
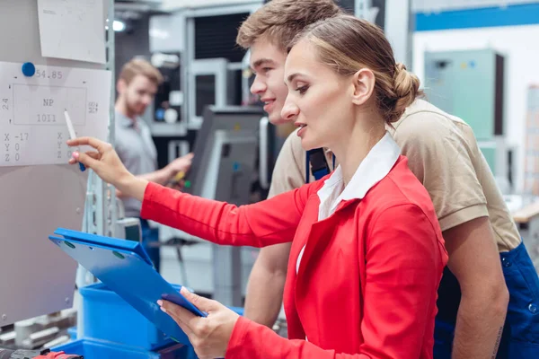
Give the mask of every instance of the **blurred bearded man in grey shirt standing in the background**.
[{"label": "blurred bearded man in grey shirt standing in the background", "polygon": [[[146,180],[167,184],[178,173],[190,168],[192,154],[180,157],[161,170],[157,170],[157,151],[149,127],[140,116],[154,101],[157,87],[163,76],[146,60],[133,59],[122,67],[117,84],[118,99],[115,105],[115,148],[128,171]],[[135,198],[122,199],[127,217],[140,217],[141,202]],[[156,228],[140,219],[142,238],[155,269],[159,271],[159,248],[151,243],[159,241]]]}]

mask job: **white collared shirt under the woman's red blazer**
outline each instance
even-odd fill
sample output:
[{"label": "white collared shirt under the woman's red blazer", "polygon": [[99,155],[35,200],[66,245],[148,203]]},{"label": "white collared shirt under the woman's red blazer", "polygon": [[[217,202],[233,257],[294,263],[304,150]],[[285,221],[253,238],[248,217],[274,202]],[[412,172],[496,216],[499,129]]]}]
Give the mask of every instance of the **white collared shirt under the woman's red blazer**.
[{"label": "white collared shirt under the woman's red blazer", "polygon": [[[341,201],[365,197],[368,190],[384,179],[391,171],[393,165],[401,155],[401,148],[393,140],[393,136],[386,132],[367,153],[365,159],[359,164],[358,170],[352,176],[348,186],[344,187],[342,169],[340,165],[333,171],[330,178],[324,181],[323,187],[318,190],[320,206],[318,207],[318,221],[322,221],[335,213]],[[296,261],[296,274],[303,257],[304,248],[300,251]]]}]

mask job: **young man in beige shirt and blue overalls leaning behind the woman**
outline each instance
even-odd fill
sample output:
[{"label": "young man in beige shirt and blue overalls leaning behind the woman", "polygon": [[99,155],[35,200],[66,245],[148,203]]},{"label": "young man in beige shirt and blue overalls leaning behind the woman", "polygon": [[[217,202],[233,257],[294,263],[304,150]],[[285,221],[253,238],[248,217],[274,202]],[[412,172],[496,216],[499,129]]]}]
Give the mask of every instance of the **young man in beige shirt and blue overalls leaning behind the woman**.
[{"label": "young man in beige shirt and blue overalls leaning behind the woman", "polygon": [[[286,122],[280,112],[287,96],[287,41],[338,12],[331,0],[273,0],[243,23],[237,42],[251,50],[256,74],[251,90],[265,102],[272,123]],[[539,280],[472,129],[416,101],[388,130],[429,190],[449,253],[438,292],[435,358],[533,357],[539,350]],[[326,149],[325,154],[332,170],[331,153]],[[270,197],[314,180],[306,167],[305,151],[293,133],[279,153]],[[289,249],[280,244],[261,250],[247,287],[248,318],[267,326],[277,319]]]}]

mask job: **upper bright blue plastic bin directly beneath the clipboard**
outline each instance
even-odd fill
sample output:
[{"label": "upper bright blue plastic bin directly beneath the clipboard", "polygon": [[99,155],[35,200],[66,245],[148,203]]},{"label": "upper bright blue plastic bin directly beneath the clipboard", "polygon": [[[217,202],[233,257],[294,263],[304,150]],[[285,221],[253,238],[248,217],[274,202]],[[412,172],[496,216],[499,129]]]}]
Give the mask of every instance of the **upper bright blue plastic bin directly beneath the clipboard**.
[{"label": "upper bright blue plastic bin directly beneath the clipboard", "polygon": [[147,350],[175,344],[106,285],[84,286],[79,292],[83,297],[84,338],[102,339]]}]

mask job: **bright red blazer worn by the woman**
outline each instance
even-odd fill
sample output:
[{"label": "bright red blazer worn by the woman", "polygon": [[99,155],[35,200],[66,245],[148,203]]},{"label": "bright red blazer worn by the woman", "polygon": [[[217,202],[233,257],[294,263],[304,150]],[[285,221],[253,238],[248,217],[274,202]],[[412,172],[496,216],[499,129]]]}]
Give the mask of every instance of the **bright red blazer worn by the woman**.
[{"label": "bright red blazer worn by the woman", "polygon": [[142,216],[217,244],[293,241],[284,295],[289,339],[242,317],[227,359],[432,358],[447,254],[427,190],[401,156],[363,199],[341,202],[318,222],[323,181],[239,207],[149,184]]}]

